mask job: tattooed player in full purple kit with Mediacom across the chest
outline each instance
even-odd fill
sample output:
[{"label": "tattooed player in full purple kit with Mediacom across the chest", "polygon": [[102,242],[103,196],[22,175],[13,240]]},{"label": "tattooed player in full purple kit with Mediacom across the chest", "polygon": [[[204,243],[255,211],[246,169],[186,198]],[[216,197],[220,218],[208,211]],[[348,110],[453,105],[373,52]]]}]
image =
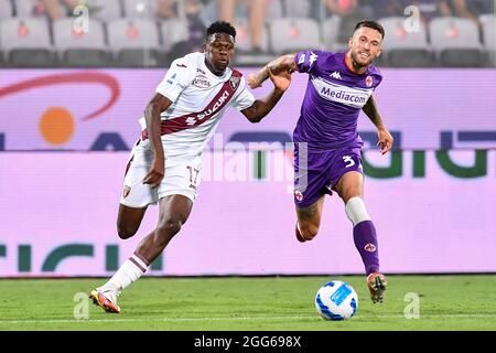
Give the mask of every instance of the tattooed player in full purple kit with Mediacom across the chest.
[{"label": "tattooed player in full purple kit with Mediacom across the chest", "polygon": [[364,203],[362,147],[357,132],[360,110],[377,128],[381,153],[392,147],[373,92],[382,76],[371,62],[380,55],[385,36],[382,26],[374,21],[356,24],[346,53],[303,51],[278,57],[257,74],[248,77],[251,88],[261,86],[281,72],[309,74],[294,141],[294,203],[298,222],[296,238],[315,237],[321,224],[325,194],[336,191],[353,223],[353,236],[365,265],[367,287],[373,302],[381,302],[387,286],[379,271],[379,254],[374,223]]}]

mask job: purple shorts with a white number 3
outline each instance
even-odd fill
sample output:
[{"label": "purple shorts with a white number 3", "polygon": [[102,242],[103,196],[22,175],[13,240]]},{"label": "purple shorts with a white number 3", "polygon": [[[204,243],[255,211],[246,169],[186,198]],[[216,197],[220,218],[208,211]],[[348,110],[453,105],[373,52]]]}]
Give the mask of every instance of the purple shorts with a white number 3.
[{"label": "purple shorts with a white number 3", "polygon": [[363,173],[360,152],[359,147],[306,151],[295,145],[294,204],[302,208],[311,206],[322,195],[332,195],[332,189],[345,173]]}]

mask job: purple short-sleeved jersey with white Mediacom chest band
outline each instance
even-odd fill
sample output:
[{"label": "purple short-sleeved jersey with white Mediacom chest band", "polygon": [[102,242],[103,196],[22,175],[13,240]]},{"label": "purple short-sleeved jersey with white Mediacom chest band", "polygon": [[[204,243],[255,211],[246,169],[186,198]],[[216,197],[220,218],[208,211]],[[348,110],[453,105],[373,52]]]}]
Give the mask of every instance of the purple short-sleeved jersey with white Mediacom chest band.
[{"label": "purple short-sleeved jersey with white Mediacom chest band", "polygon": [[309,84],[293,140],[306,142],[309,151],[363,146],[358,114],[382,75],[373,65],[362,75],[353,73],[345,55],[315,50],[294,57],[298,71],[309,74]]}]

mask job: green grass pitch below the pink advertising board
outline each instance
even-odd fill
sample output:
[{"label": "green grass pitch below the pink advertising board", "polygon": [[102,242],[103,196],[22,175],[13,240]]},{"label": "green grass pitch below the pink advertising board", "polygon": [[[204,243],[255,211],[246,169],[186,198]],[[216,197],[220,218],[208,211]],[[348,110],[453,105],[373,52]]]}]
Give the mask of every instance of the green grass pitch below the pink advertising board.
[{"label": "green grass pitch below the pink advertising board", "polygon": [[[316,313],[314,296],[330,279],[357,291],[352,320],[325,321]],[[119,297],[122,312],[109,314],[87,300],[100,278],[1,279],[0,330],[496,330],[496,275],[388,280],[386,301],[373,304],[364,276],[142,278]],[[409,292],[420,298],[418,319],[405,317]],[[75,312],[87,318],[75,319]]]}]

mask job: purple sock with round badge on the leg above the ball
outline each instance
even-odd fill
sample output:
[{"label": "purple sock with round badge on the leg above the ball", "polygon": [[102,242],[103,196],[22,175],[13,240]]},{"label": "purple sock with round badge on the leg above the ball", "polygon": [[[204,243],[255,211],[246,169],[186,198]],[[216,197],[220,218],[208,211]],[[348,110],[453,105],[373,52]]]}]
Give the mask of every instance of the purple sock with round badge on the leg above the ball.
[{"label": "purple sock with round badge on the leg above the ball", "polygon": [[379,249],[376,227],[371,221],[363,221],[353,227],[355,246],[360,253],[367,276],[379,270]]}]

